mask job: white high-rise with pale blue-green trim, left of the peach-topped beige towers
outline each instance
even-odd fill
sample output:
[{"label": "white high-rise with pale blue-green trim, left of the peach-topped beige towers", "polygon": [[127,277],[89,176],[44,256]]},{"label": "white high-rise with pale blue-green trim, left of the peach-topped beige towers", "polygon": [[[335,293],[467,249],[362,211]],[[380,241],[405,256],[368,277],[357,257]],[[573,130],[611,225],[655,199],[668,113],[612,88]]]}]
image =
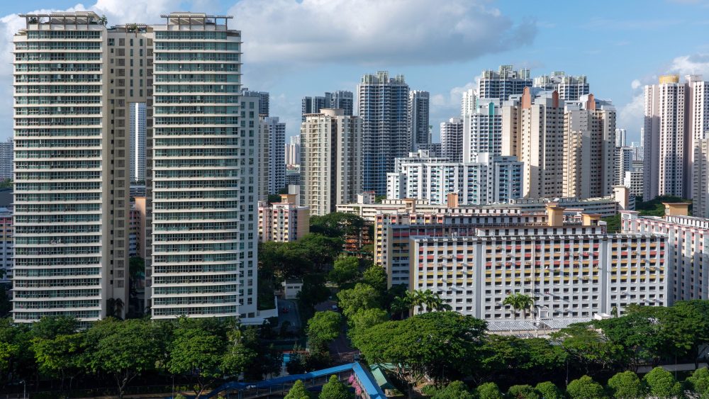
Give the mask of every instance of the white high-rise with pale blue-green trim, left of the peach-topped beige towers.
[{"label": "white high-rise with pale blue-green trim, left of the peach-topped beige towers", "polygon": [[500,101],[479,99],[476,111],[463,117],[463,162],[477,162],[481,153],[498,156],[501,151]]}]

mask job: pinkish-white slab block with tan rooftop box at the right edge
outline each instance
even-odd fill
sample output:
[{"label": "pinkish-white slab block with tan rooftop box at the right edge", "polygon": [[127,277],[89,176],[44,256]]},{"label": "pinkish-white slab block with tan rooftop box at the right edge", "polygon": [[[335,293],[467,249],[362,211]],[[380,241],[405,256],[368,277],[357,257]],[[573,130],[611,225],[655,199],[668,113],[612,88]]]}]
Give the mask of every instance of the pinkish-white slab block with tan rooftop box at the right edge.
[{"label": "pinkish-white slab block with tan rooftop box at the right edge", "polygon": [[665,216],[622,213],[623,232],[666,237],[670,303],[709,299],[709,220],[687,215],[688,203],[665,203]]}]

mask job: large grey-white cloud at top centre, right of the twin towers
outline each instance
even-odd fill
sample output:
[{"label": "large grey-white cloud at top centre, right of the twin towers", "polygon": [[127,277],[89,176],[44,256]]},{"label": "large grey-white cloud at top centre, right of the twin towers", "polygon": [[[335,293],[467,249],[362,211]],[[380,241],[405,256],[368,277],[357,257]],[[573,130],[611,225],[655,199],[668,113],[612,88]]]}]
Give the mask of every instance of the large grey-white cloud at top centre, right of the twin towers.
[{"label": "large grey-white cloud at top centre, right of the twin towers", "polygon": [[248,62],[440,64],[529,44],[537,29],[482,0],[242,0],[229,13]]}]

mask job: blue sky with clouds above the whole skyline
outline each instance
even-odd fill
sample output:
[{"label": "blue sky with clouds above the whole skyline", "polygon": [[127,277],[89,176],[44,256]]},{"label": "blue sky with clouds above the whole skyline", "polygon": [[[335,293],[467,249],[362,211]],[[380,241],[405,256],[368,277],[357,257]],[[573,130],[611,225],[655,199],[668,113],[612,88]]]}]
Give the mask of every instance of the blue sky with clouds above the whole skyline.
[{"label": "blue sky with clouds above the whole skyline", "polygon": [[[130,4],[128,6],[128,4]],[[298,133],[300,100],[323,91],[354,91],[362,74],[404,74],[432,95],[434,138],[459,113],[459,94],[483,69],[499,64],[585,74],[591,92],[611,99],[618,127],[637,140],[642,85],[666,72],[709,80],[709,1],[488,0],[87,0],[0,3],[1,137],[11,135],[13,14],[91,9],[111,23],[157,22],[160,13],[205,11],[235,16],[244,39],[243,82],[269,91],[272,116]]]}]

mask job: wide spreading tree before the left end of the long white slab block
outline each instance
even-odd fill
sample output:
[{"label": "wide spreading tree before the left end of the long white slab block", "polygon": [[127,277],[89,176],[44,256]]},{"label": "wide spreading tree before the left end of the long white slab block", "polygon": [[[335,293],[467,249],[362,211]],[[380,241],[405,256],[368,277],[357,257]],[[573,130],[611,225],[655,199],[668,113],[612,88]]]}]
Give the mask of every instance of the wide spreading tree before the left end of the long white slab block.
[{"label": "wide spreading tree before the left end of the long white slab block", "polygon": [[453,312],[415,315],[370,327],[353,344],[369,364],[404,364],[411,376],[439,381],[476,367],[486,322]]}]

